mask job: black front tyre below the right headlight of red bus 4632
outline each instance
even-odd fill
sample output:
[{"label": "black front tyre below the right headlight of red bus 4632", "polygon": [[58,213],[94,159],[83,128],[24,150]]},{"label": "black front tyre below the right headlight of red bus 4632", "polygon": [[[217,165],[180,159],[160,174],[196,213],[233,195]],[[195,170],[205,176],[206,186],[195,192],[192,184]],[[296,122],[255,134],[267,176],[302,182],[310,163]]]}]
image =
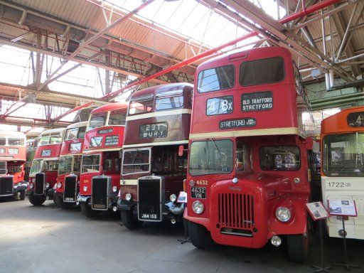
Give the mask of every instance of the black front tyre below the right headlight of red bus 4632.
[{"label": "black front tyre below the right headlight of red bus 4632", "polygon": [[309,255],[309,236],[307,234],[287,235],[289,259],[303,264]]}]

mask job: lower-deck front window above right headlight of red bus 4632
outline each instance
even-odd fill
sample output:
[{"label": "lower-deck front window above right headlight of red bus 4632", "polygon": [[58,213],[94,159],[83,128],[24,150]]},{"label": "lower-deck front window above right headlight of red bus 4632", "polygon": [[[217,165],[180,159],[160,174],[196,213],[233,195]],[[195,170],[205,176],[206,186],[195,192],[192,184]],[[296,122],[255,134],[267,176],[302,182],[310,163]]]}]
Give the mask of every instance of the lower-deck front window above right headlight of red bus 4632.
[{"label": "lower-deck front window above right headlight of red bus 4632", "polygon": [[259,149],[259,160],[263,171],[297,171],[301,168],[297,146],[262,147]]}]

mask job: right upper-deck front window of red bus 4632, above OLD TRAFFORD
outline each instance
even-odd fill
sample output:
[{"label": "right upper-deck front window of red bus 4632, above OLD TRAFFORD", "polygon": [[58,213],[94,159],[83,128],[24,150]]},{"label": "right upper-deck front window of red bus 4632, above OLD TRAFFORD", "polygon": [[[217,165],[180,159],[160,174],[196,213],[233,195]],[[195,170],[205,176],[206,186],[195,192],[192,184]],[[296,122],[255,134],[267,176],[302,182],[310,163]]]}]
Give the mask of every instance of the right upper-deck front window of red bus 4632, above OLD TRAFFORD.
[{"label": "right upper-deck front window of red bus 4632, above OLD TRAFFORD", "polygon": [[281,57],[251,60],[242,63],[239,83],[242,86],[280,82],[284,79],[284,60]]}]

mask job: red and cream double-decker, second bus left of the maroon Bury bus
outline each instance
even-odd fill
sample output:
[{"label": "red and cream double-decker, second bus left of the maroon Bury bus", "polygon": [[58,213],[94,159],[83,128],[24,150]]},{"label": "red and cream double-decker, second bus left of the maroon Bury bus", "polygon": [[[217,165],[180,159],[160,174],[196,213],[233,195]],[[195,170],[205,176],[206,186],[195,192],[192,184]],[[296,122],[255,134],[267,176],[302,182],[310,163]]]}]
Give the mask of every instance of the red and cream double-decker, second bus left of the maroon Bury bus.
[{"label": "red and cream double-decker, second bus left of the maroon Bury bus", "polygon": [[60,208],[75,205],[79,193],[80,165],[87,122],[77,122],[65,130],[60,148],[55,200]]}]

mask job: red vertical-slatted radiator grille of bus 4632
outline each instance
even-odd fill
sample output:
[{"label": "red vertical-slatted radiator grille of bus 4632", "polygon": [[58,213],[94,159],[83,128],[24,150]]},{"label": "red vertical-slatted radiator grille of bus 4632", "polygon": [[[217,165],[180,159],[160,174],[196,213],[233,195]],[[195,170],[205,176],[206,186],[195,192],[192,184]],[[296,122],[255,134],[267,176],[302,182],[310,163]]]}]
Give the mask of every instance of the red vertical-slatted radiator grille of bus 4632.
[{"label": "red vertical-slatted radiator grille of bus 4632", "polygon": [[221,228],[252,229],[254,197],[241,193],[218,194],[218,221]]}]

